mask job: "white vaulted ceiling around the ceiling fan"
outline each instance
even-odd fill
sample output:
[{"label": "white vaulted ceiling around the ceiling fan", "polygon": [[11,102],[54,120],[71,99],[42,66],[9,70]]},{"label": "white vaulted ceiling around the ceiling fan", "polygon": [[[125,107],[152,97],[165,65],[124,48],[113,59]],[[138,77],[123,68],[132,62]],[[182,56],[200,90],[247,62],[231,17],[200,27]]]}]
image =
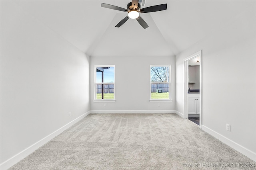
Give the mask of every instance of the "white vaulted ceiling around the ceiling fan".
[{"label": "white vaulted ceiling around the ceiling fan", "polygon": [[145,7],[167,3],[167,10],[140,14],[149,25],[143,29],[132,19],[115,27],[127,13],[101,7],[104,2],[126,8],[130,0],[14,2],[92,57],[176,55],[225,27],[248,7],[237,0],[147,0]]}]

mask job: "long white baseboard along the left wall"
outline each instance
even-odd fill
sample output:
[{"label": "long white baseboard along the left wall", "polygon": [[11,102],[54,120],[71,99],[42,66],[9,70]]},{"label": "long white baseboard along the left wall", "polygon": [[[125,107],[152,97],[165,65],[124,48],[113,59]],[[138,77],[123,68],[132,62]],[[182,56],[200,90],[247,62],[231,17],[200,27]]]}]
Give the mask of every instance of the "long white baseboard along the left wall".
[{"label": "long white baseboard along the left wall", "polygon": [[6,169],[10,168],[11,166],[13,166],[14,164],[18,163],[20,160],[22,160],[23,158],[25,158],[26,156],[28,156],[29,154],[34,152],[36,149],[42,147],[44,144],[46,144],[47,142],[52,140],[54,137],[56,137],[57,135],[59,135],[60,133],[62,133],[63,131],[65,131],[66,129],[68,129],[69,127],[71,127],[72,125],[74,125],[75,123],[77,123],[78,121],[80,121],[81,119],[83,119],[84,117],[86,117],[89,114],[90,114],[90,111],[82,114],[81,116],[72,120],[68,124],[62,126],[60,129],[54,131],[53,133],[44,137],[40,141],[34,143],[30,147],[22,150],[20,153],[18,153],[16,155],[14,155],[12,158],[6,160],[2,164],[0,164],[0,170],[6,170]]}]

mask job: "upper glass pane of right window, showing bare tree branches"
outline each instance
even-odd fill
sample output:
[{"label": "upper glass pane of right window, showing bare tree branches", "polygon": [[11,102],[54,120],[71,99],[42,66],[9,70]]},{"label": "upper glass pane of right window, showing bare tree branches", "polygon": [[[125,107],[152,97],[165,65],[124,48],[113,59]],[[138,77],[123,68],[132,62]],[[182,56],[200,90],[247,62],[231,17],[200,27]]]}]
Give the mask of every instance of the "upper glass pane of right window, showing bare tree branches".
[{"label": "upper glass pane of right window, showing bare tree branches", "polygon": [[151,82],[168,82],[168,67],[151,67]]}]

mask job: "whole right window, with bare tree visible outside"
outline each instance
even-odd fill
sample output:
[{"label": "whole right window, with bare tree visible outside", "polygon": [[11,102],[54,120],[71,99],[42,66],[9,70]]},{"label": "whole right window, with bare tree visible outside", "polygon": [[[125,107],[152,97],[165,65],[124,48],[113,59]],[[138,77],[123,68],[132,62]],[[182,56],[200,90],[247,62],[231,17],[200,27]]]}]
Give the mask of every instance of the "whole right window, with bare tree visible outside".
[{"label": "whole right window, with bare tree visible outside", "polygon": [[171,101],[170,65],[150,65],[150,101]]}]

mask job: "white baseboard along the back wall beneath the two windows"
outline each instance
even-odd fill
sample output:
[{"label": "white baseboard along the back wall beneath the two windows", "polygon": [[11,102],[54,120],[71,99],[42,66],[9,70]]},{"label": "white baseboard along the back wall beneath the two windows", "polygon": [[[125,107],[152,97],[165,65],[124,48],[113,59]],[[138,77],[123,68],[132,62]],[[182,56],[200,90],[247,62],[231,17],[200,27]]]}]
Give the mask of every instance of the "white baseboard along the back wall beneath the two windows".
[{"label": "white baseboard along the back wall beneath the two windows", "polygon": [[90,113],[175,113],[175,110],[91,110]]}]

